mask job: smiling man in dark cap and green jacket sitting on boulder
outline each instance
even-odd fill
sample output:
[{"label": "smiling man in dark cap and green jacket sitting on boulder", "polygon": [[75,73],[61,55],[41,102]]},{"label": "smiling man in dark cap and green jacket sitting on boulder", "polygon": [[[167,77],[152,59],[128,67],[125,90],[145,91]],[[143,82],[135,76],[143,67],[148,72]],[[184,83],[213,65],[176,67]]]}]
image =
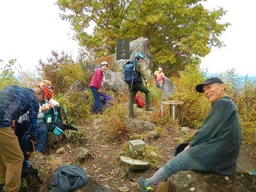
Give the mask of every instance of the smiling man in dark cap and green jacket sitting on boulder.
[{"label": "smiling man in dark cap and green jacket sitting on boulder", "polygon": [[237,108],[226,95],[225,85],[218,77],[211,77],[198,84],[196,91],[205,93],[211,102],[209,115],[184,151],[157,170],[151,179],[138,180],[142,191],[152,190],[152,186],[166,181],[181,170],[223,175],[232,175],[236,171],[242,137]]}]

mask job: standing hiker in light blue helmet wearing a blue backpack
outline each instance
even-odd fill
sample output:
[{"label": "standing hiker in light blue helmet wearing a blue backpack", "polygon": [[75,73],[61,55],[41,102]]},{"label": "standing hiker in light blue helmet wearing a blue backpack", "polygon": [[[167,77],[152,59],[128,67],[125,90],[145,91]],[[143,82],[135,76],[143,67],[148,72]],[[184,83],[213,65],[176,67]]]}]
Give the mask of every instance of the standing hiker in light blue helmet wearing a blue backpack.
[{"label": "standing hiker in light blue helmet wearing a blue backpack", "polygon": [[[124,65],[124,81],[129,86],[129,95],[130,95],[130,102],[129,102],[129,117],[133,118],[133,104],[135,95],[137,92],[145,93],[145,100],[146,100],[146,111],[152,111],[154,108],[150,107],[150,92],[146,86],[148,86],[147,81],[147,72],[145,72],[143,68],[143,54],[140,52],[136,52],[134,54],[134,60],[128,61]],[[143,80],[146,83],[146,86],[143,84]]]}]

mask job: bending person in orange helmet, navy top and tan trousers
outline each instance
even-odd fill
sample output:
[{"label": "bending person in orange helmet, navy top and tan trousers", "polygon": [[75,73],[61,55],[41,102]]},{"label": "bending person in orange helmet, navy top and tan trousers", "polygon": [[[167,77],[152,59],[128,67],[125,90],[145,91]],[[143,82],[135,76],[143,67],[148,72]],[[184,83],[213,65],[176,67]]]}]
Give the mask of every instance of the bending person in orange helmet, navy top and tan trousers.
[{"label": "bending person in orange helmet, navy top and tan trousers", "polygon": [[0,91],[0,187],[4,191],[19,191],[24,160],[12,121],[29,111],[31,130],[37,129],[38,102],[51,97],[49,86],[30,89],[10,85]]}]

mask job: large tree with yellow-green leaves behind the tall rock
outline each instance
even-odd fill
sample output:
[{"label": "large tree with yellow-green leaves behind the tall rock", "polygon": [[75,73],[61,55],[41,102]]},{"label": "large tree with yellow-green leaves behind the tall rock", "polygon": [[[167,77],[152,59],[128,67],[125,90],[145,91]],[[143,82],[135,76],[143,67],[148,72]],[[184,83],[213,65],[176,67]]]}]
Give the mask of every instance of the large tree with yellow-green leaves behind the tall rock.
[{"label": "large tree with yellow-green leaves behind the tall rock", "polygon": [[[218,39],[229,25],[219,24],[223,8],[206,10],[204,0],[58,0],[62,19],[72,24],[81,46],[95,56],[113,54],[116,38],[149,39],[154,67],[161,64],[168,75],[221,47]],[[71,12],[70,12],[71,11]],[[86,33],[90,22],[93,34]]]}]

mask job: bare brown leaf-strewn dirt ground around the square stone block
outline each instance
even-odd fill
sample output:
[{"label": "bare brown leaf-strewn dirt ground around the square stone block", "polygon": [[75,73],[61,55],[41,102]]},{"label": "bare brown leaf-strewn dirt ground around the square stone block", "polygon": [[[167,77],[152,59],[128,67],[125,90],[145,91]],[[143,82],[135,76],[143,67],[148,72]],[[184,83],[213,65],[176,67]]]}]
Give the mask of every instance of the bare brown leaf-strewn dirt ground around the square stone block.
[{"label": "bare brown leaf-strewn dirt ground around the square stone block", "polygon": [[[143,116],[152,116],[155,111],[145,112],[140,110]],[[138,119],[138,118],[135,118]],[[182,142],[180,134],[177,133],[174,127],[164,126],[164,132],[160,134],[156,140],[145,141],[146,145],[156,147],[159,151],[156,159],[159,163],[154,164],[154,167],[148,168],[145,171],[131,171],[124,165],[120,164],[119,156],[124,154],[124,143],[121,141],[113,141],[109,138],[108,131],[104,119],[101,115],[92,115],[88,124],[80,127],[80,130],[86,132],[86,141],[84,143],[76,143],[76,140],[61,145],[53,150],[48,150],[47,164],[43,159],[42,164],[38,168],[44,167],[41,172],[48,174],[53,172],[59,164],[73,164],[77,161],[77,149],[79,147],[89,150],[86,160],[81,161],[79,166],[86,170],[88,176],[97,180],[102,186],[115,191],[139,191],[137,180],[143,176],[150,178],[158,168],[164,165],[173,155],[173,148]],[[195,130],[194,130],[195,131]],[[146,130],[147,132],[147,130]],[[192,129],[188,132],[193,132]],[[184,133],[185,134],[185,133]],[[76,137],[76,136],[74,136]],[[57,150],[56,150],[57,149]],[[33,161],[33,159],[31,159]],[[49,168],[51,167],[51,168]],[[243,143],[238,159],[237,169],[252,172],[256,170],[256,149]],[[41,186],[40,191],[47,191],[45,184]]]}]

